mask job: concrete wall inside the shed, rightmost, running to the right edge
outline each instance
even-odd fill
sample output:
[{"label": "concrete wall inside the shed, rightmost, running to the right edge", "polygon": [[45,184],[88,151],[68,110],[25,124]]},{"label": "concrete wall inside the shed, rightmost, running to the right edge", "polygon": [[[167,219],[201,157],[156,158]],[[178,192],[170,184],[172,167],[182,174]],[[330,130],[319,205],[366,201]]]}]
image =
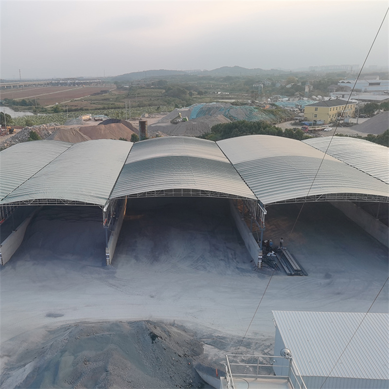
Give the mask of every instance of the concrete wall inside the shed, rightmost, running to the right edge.
[{"label": "concrete wall inside the shed, rightmost, running to the right edge", "polygon": [[354,223],[362,227],[372,237],[386,247],[389,247],[389,228],[385,224],[351,201],[330,201],[330,203],[342,211],[349,219],[353,220]]}]

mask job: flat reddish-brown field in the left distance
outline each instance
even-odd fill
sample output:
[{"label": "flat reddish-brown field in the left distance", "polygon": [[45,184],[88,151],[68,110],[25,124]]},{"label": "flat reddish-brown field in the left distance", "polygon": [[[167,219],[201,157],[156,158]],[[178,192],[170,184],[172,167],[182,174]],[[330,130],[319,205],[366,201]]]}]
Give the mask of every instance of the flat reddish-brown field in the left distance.
[{"label": "flat reddish-brown field in the left distance", "polygon": [[[111,87],[111,86],[110,86]],[[92,93],[107,89],[105,86],[97,87],[39,87],[9,89],[1,91],[1,99],[30,99],[35,100],[41,106],[52,106],[55,103],[63,104],[72,99],[80,99],[90,96]],[[112,88],[112,87],[111,87]]]}]

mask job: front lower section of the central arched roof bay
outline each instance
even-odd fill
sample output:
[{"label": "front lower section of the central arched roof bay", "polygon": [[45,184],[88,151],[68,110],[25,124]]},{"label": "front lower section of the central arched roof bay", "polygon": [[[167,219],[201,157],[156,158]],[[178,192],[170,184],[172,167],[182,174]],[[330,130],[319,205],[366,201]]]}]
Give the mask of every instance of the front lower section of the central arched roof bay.
[{"label": "front lower section of the central arched roof bay", "polygon": [[111,197],[169,189],[212,191],[256,199],[228,161],[181,155],[126,163]]}]

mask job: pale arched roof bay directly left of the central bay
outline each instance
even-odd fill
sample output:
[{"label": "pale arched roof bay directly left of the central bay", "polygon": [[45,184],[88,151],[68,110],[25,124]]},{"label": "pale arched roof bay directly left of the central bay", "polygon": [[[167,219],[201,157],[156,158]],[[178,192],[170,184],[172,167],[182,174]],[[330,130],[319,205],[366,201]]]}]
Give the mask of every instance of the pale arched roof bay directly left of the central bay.
[{"label": "pale arched roof bay directly left of the central bay", "polygon": [[2,203],[59,199],[103,206],[132,144],[108,139],[75,143],[7,195]]}]

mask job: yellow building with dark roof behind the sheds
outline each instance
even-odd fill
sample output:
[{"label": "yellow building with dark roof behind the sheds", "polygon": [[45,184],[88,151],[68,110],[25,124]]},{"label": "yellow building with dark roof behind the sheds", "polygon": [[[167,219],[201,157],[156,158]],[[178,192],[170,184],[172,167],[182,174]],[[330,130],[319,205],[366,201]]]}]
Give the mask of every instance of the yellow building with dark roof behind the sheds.
[{"label": "yellow building with dark roof behind the sheds", "polygon": [[324,124],[329,124],[336,122],[340,116],[342,119],[353,118],[355,116],[355,106],[355,103],[347,104],[347,101],[340,99],[319,101],[305,106],[304,116],[310,122],[321,120]]}]

